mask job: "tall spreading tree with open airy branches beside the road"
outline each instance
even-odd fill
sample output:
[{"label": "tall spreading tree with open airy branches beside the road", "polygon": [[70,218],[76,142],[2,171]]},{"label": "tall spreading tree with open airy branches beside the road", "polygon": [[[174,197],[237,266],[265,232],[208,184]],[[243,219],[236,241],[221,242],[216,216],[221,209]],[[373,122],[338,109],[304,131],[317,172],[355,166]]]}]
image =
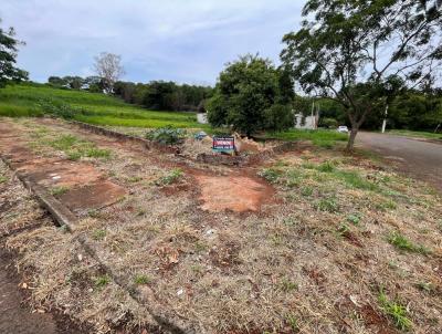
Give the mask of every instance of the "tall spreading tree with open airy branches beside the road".
[{"label": "tall spreading tree with open airy branches beside the road", "polygon": [[[389,81],[418,85],[440,71],[440,0],[308,0],[281,58],[306,93],[337,101],[351,124],[347,148]],[[364,94],[361,94],[364,92]]]}]

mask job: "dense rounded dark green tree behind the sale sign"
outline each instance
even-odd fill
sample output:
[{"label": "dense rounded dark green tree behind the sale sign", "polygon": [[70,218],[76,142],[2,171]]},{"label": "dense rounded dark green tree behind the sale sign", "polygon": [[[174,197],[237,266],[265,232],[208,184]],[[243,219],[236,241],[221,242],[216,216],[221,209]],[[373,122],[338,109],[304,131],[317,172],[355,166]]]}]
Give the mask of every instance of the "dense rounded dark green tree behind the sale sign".
[{"label": "dense rounded dark green tree behind the sale sign", "polygon": [[294,122],[290,85],[269,60],[241,56],[221,72],[208,102],[208,119],[213,126],[232,125],[249,137],[260,129],[286,128]]}]

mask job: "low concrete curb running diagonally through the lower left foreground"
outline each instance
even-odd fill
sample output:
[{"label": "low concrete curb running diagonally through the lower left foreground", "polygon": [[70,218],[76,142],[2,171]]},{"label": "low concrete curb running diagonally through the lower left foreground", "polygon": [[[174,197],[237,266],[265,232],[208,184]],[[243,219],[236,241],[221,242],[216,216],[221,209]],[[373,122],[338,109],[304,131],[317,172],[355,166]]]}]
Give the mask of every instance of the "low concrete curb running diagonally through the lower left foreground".
[{"label": "low concrete curb running diagonally through the lower left foreground", "polygon": [[[75,222],[78,221],[78,218],[62,202],[60,202],[56,198],[54,198],[51,194],[49,194],[42,186],[33,182],[23,174],[18,171],[8,160],[7,157],[0,155],[1,160],[14,173],[17,178],[24,185],[27,189],[29,189],[38,199],[41,207],[50,212],[50,215],[56,221],[59,227],[65,227],[69,232],[73,232],[75,230]],[[126,293],[138,304],[146,309],[146,311],[151,315],[151,317],[157,322],[158,327],[166,333],[173,334],[193,334],[193,333],[204,333],[202,328],[200,328],[197,324],[188,324],[181,319],[177,319],[177,316],[172,314],[167,314],[166,311],[156,312],[149,306],[149,301],[141,295],[139,291],[137,291],[136,286],[128,283],[127,280],[116,274],[108,265],[104,264],[99,257],[97,255],[94,246],[87,240],[85,236],[76,236],[75,239],[82,244],[85,252],[93,258],[101,268],[106,271],[113,281],[119,285]],[[159,306],[157,307],[159,309]]]}]

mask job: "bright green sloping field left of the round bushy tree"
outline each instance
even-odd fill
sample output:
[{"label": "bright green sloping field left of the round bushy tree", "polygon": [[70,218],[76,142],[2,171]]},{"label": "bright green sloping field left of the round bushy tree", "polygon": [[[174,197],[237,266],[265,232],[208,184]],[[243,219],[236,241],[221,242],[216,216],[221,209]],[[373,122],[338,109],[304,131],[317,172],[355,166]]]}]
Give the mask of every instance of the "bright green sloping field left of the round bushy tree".
[{"label": "bright green sloping field left of the round bushy tree", "polygon": [[74,119],[98,125],[133,127],[202,127],[194,113],[156,112],[127,104],[119,98],[84,91],[60,90],[40,84],[9,85],[0,90],[0,115],[42,116],[41,101],[76,108]]}]

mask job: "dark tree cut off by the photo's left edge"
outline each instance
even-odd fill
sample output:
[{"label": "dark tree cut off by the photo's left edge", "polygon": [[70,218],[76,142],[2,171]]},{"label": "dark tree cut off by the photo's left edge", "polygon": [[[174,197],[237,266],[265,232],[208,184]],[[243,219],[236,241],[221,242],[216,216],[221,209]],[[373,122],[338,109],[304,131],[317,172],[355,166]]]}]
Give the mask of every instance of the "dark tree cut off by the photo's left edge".
[{"label": "dark tree cut off by the photo's left edge", "polygon": [[13,28],[9,28],[7,31],[0,28],[0,87],[9,81],[28,79],[28,72],[15,67],[18,45],[20,44],[22,42],[14,38]]}]

